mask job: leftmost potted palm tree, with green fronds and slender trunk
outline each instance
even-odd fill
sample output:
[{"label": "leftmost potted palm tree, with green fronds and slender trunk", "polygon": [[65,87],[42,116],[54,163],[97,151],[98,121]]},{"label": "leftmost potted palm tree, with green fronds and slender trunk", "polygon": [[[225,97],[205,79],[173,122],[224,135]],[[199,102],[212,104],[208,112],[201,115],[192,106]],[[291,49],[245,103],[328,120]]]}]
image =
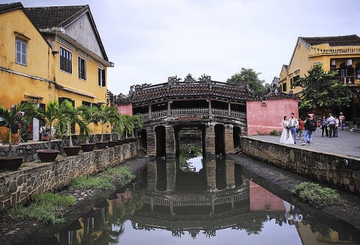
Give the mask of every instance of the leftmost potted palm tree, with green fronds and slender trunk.
[{"label": "leftmost potted palm tree, with green fronds and slender trunk", "polygon": [[[19,115],[19,112],[23,112]],[[36,108],[32,103],[22,102],[18,103],[12,108],[11,111],[4,106],[0,106],[0,119],[4,122],[4,126],[8,127],[8,158],[13,156],[13,151],[11,147],[11,127],[16,123],[20,123],[20,136],[25,132],[28,132],[28,126],[30,120],[36,115]]]}]

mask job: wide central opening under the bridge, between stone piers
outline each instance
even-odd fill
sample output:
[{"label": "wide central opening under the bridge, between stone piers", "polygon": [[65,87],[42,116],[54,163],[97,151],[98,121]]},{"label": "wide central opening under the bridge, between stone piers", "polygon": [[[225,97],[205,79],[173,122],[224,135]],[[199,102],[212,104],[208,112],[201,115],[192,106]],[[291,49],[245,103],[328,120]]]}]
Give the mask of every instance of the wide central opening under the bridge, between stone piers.
[{"label": "wide central opening under the bridge, between stone piers", "polygon": [[205,154],[205,125],[176,125],[174,127],[176,156],[180,155],[181,145],[188,149],[201,149]]}]

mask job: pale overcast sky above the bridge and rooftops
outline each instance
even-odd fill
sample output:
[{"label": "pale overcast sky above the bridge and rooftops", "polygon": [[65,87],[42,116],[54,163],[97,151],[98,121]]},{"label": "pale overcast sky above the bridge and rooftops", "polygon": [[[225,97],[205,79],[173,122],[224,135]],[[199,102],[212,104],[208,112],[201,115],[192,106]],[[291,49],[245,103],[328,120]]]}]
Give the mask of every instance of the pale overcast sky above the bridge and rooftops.
[{"label": "pale overcast sky above the bridge and rooftops", "polygon": [[[1,4],[11,1],[0,0]],[[359,33],[359,0],[25,0],[25,7],[90,6],[115,64],[108,89],[158,84],[190,73],[226,82],[241,68],[271,83],[298,37]]]}]

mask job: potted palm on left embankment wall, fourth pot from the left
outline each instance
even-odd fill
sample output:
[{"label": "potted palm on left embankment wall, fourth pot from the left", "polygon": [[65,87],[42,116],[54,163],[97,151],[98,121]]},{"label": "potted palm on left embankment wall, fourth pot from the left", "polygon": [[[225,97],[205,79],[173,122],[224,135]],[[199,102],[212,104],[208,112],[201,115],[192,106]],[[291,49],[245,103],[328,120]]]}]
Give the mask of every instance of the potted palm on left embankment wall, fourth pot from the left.
[{"label": "potted palm on left embankment wall, fourth pot from the left", "polygon": [[[97,120],[97,108],[90,106],[83,106],[83,108],[84,110],[80,110],[79,112],[80,117],[83,119],[83,121],[86,122],[88,125],[90,125],[90,123],[97,125],[97,123],[99,122]],[[81,130],[80,128],[78,139],[80,142],[81,149],[83,149],[84,152],[90,152],[95,148],[96,144],[89,142],[90,136],[91,136],[90,131]]]}]

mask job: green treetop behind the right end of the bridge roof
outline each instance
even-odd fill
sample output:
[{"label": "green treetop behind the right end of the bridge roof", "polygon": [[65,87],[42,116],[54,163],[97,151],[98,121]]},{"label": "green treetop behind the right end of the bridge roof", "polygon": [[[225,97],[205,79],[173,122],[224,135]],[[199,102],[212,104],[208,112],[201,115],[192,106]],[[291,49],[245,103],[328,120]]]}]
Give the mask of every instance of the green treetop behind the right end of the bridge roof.
[{"label": "green treetop behind the right end of the bridge roof", "polygon": [[242,84],[243,82],[248,83],[248,88],[253,94],[265,92],[265,80],[260,80],[258,75],[253,69],[241,68],[240,73],[235,73],[231,78],[227,80],[229,84]]}]

